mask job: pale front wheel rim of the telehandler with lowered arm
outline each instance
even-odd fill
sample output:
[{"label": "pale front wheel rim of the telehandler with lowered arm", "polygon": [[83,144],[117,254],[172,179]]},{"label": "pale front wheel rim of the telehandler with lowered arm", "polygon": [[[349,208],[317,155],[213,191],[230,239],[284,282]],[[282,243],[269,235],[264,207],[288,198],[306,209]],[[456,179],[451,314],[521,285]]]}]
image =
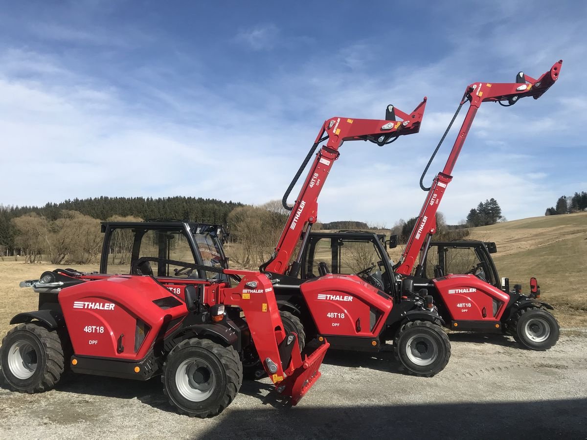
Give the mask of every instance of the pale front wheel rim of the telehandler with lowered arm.
[{"label": "pale front wheel rim of the telehandler with lowered arm", "polygon": [[191,358],[177,368],[176,385],[187,400],[201,402],[214,392],[216,378],[210,364],[202,359]]}]

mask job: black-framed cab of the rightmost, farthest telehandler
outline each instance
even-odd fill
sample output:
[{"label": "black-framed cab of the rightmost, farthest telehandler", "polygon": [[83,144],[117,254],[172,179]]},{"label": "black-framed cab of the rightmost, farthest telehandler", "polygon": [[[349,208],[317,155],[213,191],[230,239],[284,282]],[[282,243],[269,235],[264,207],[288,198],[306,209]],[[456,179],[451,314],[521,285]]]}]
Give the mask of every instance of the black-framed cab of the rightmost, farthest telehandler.
[{"label": "black-framed cab of the rightmost, farthest telehandler", "polygon": [[423,277],[439,278],[449,273],[472,273],[492,286],[502,289],[491,253],[497,252],[494,242],[458,240],[431,242],[424,260]]}]

